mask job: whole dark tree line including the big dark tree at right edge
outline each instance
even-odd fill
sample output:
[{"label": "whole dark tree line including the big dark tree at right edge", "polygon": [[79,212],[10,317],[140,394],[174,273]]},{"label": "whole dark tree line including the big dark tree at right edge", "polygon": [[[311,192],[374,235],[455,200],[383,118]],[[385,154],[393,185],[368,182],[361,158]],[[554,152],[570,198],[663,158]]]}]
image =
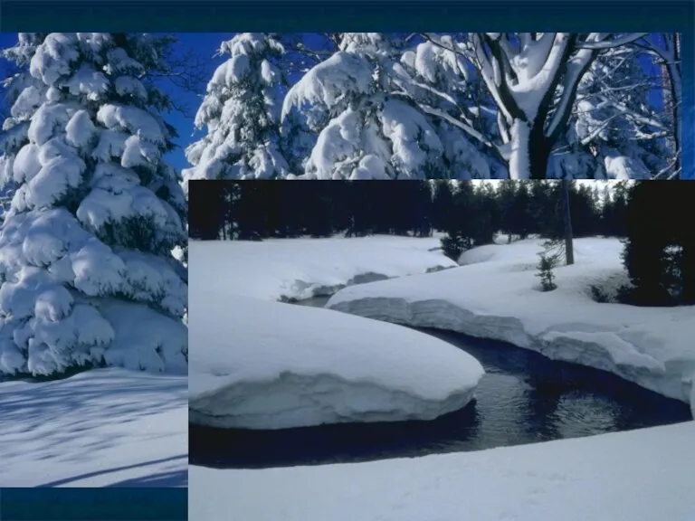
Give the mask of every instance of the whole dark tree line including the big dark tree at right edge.
[{"label": "whole dark tree line including the big dark tree at right edge", "polygon": [[[573,236],[624,239],[632,285],[624,302],[695,304],[695,183],[569,183]],[[539,235],[564,238],[559,181],[195,181],[189,232],[198,240],[262,241],[337,233],[427,237],[443,251]]]}]

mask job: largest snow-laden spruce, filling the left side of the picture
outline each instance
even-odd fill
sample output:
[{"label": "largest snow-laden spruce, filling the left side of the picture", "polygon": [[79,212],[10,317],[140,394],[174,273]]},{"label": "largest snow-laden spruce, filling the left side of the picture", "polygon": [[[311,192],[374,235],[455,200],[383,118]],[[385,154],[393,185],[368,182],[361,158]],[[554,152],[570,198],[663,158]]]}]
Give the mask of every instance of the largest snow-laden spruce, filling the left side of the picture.
[{"label": "largest snow-laden spruce, filling the left side of the picture", "polygon": [[[162,159],[161,35],[20,35],[28,81],[5,121],[0,373],[185,370],[186,200]],[[24,49],[24,51],[23,51]],[[23,54],[24,52],[24,54]]]}]

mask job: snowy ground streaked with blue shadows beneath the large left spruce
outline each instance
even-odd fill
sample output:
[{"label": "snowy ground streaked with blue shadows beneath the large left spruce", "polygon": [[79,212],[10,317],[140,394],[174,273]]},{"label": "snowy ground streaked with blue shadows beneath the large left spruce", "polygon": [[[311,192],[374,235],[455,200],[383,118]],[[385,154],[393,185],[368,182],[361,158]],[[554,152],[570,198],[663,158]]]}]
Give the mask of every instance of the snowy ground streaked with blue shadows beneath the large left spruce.
[{"label": "snowy ground streaked with blue shadows beneath the large left spruce", "polygon": [[186,487],[186,375],[0,382],[0,488]]}]

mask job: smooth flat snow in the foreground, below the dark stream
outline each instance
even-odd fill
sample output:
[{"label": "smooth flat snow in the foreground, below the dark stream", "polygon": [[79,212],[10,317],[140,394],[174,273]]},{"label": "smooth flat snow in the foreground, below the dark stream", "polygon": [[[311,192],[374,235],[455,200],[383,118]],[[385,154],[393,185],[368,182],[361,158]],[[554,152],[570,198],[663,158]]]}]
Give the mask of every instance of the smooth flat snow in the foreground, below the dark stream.
[{"label": "smooth flat snow in the foreground, below the dark stream", "polygon": [[191,467],[200,521],[695,519],[695,422],[517,447],[262,470]]}]

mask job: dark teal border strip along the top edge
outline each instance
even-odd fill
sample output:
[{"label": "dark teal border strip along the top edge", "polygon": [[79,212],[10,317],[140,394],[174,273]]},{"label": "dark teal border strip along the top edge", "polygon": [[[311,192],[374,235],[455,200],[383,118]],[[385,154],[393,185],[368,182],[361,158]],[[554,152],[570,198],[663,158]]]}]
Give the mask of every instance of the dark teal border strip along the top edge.
[{"label": "dark teal border strip along the top edge", "polygon": [[685,31],[685,0],[5,0],[0,30]]}]

